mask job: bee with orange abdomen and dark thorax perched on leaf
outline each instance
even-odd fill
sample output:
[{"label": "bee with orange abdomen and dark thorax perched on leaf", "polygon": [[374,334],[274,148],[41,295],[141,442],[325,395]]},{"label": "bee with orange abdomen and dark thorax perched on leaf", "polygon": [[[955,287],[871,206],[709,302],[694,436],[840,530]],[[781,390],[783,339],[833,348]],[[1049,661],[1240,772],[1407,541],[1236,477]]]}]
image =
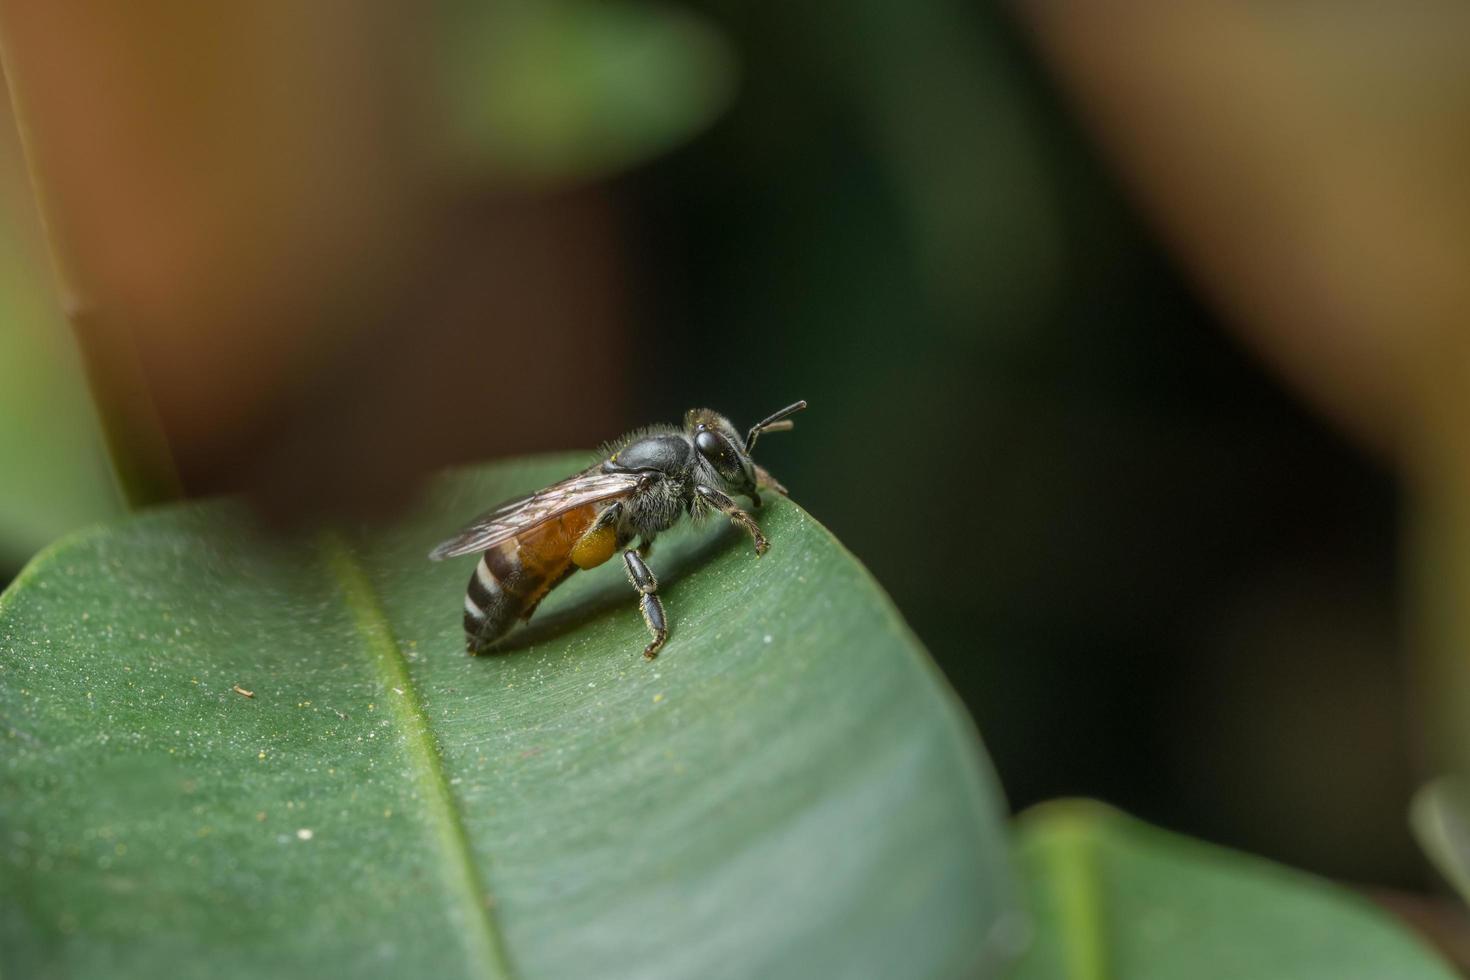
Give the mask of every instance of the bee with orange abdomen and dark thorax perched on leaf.
[{"label": "bee with orange abdomen and dark thorax perched on leaf", "polygon": [[[744,439],[725,416],[691,408],[682,428],[632,432],[609,445],[600,463],[475,519],[429,552],[432,561],[482,552],[465,594],[466,649],[490,651],[573,572],[595,569],[622,551],[651,635],[644,657],[657,657],[669,639],[669,617],[645,561],[654,538],[684,517],[719,511],[750,535],[757,558],[766,554],[766,535],[732,498],[748,497],[760,507],[760,491],[786,492],[751,451],[761,432],[791,429],[789,416],[806,407],[806,401],[786,406],[751,426]],[[629,547],[634,538],[637,548]]]}]

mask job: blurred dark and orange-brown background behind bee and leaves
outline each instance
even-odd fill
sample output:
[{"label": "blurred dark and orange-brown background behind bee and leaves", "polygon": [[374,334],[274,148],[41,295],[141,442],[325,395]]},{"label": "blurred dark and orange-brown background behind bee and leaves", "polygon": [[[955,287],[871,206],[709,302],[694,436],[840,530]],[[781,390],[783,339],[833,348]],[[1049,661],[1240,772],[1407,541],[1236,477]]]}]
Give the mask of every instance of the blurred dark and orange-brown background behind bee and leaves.
[{"label": "blurred dark and orange-brown background behind bee and leaves", "polygon": [[1429,882],[1463,4],[51,6],[0,3],[0,577],[807,398],[761,461],[1013,807]]}]

